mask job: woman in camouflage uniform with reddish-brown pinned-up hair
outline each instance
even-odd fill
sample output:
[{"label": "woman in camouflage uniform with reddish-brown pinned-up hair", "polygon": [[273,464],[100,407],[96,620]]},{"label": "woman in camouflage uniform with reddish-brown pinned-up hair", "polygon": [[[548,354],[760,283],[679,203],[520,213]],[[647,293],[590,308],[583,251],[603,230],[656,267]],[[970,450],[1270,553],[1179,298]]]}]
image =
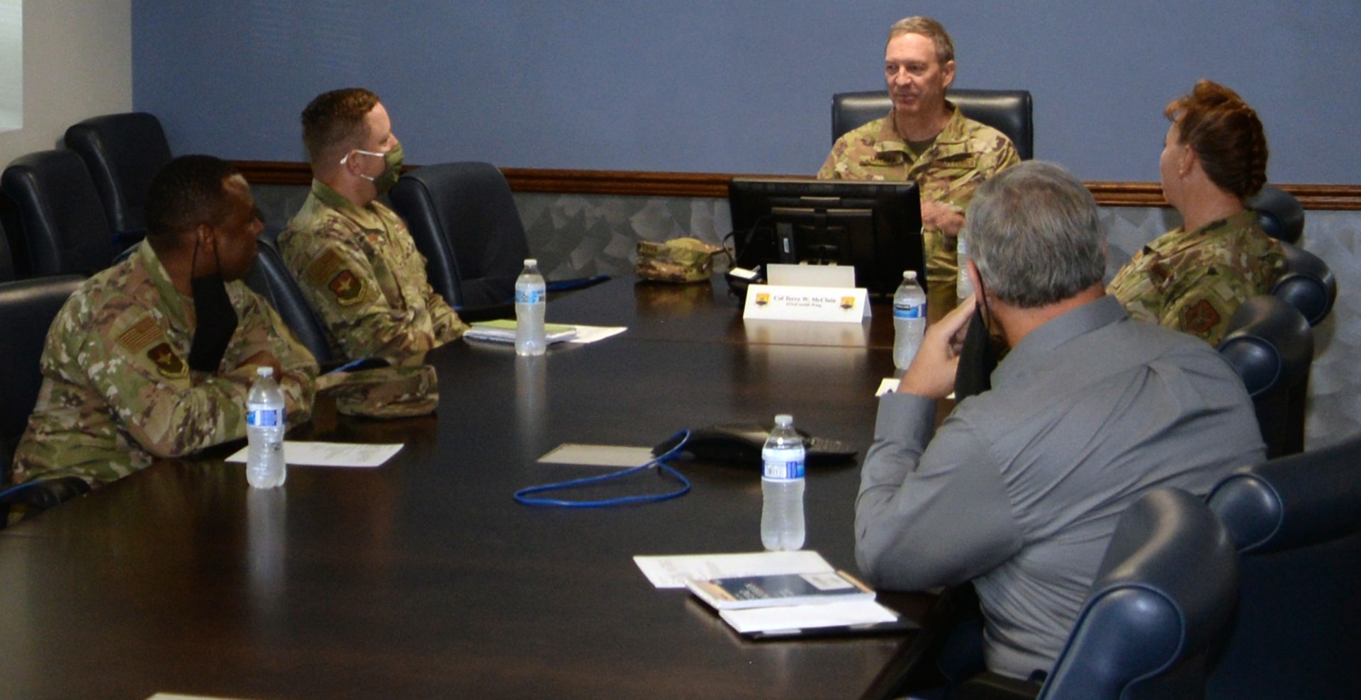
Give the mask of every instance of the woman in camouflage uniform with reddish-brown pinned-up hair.
[{"label": "woman in camouflage uniform with reddish-brown pinned-up hair", "polygon": [[1219,345],[1233,313],[1268,294],[1285,251],[1244,204],[1267,181],[1267,137],[1258,113],[1228,87],[1200,80],[1172,101],[1158,159],[1162,196],[1183,224],[1120,268],[1108,291],[1130,318]]}]

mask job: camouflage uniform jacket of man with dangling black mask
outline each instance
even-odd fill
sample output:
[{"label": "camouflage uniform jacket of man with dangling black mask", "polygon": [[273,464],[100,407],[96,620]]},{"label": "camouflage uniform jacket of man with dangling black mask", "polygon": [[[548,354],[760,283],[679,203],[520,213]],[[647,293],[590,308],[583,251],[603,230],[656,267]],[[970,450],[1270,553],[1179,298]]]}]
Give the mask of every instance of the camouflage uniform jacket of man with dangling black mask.
[{"label": "camouflage uniform jacket of man with dangling black mask", "polygon": [[245,438],[256,366],[271,352],[289,424],[312,415],[317,363],[268,302],[227,283],[237,332],[215,374],[189,368],[193,302],[150,245],[87,280],[48,330],[42,389],[15,453],[15,481],[79,476],[101,485],[157,457],[184,457]]}]

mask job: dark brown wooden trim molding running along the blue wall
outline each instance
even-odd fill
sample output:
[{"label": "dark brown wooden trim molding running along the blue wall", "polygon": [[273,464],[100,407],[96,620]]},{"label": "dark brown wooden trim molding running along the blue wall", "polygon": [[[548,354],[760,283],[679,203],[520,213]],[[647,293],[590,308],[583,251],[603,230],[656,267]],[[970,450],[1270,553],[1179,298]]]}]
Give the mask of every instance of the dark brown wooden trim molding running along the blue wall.
[{"label": "dark brown wooden trim molding running along the blue wall", "polygon": [[[312,182],[306,163],[237,160],[246,179],[259,185]],[[514,192],[557,194],[622,194],[641,197],[727,198],[732,173],[645,173],[633,170],[501,169]],[[759,175],[799,177],[799,175]],[[1166,207],[1157,182],[1087,182],[1102,207]],[[1279,185],[1305,209],[1361,211],[1361,185]]]}]

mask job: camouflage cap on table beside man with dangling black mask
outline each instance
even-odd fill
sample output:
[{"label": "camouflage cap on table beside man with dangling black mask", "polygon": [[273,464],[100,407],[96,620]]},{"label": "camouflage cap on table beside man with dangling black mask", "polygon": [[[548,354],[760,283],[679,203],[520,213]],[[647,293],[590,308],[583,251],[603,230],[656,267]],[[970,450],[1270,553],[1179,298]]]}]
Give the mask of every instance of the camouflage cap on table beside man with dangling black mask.
[{"label": "camouflage cap on table beside man with dangling black mask", "polygon": [[425,416],[440,405],[440,381],[434,367],[377,367],[357,372],[335,372],[318,391],[333,396],[336,410],[346,416],[404,419]]}]

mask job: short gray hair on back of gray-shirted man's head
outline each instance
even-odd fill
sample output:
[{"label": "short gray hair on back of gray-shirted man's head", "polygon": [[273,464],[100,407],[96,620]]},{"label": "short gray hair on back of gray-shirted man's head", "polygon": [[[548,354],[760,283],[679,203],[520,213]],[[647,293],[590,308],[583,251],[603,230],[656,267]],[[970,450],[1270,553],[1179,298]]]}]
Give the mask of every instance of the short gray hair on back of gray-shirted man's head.
[{"label": "short gray hair on back of gray-shirted man's head", "polygon": [[1021,309],[1072,298],[1105,275],[1096,197],[1055,163],[1026,160],[979,185],[960,235],[988,294]]}]

